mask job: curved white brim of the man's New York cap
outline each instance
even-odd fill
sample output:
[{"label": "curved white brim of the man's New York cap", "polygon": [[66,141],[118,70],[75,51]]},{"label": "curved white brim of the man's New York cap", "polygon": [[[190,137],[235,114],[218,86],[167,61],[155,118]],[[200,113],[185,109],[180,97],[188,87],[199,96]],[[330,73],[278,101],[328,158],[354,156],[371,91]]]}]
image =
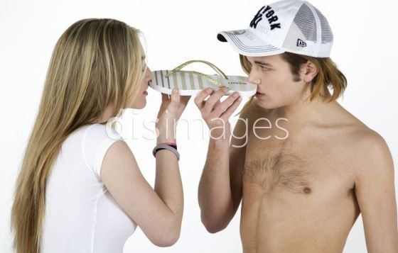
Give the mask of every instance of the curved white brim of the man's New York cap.
[{"label": "curved white brim of the man's New York cap", "polygon": [[260,57],[285,52],[260,39],[250,29],[223,31],[217,34],[217,39],[229,43],[240,55],[245,56]]}]

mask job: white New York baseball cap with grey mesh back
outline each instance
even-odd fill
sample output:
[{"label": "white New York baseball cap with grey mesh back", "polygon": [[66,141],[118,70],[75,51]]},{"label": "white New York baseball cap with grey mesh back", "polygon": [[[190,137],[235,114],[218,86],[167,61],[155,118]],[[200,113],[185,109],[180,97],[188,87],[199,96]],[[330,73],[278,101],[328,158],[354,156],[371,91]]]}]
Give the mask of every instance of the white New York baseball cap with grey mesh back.
[{"label": "white New York baseball cap with grey mesh back", "polygon": [[250,26],[218,33],[241,55],[267,56],[293,52],[329,57],[333,33],[325,16],[308,1],[283,0],[263,6]]}]

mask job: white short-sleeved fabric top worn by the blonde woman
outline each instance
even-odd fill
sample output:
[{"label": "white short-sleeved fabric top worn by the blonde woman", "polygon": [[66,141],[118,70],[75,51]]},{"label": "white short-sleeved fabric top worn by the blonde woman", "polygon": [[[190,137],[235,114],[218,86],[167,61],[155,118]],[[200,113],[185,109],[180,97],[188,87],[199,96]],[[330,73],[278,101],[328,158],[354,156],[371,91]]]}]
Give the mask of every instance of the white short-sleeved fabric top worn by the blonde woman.
[{"label": "white short-sleeved fabric top worn by the blonde woman", "polygon": [[86,125],[63,142],[45,191],[42,253],[123,252],[136,229],[99,178],[105,153],[122,139],[109,130]]}]

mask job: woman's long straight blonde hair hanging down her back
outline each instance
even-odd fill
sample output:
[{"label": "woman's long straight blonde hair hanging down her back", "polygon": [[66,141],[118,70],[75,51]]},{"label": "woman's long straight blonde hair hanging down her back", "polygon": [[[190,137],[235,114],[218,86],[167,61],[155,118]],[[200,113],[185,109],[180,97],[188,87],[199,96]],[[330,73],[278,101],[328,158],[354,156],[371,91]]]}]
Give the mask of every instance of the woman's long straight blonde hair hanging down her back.
[{"label": "woman's long straight blonde hair hanging down her back", "polygon": [[63,141],[97,123],[107,106],[121,116],[144,73],[139,30],[112,19],[72,24],[55,45],[38,115],[16,182],[11,230],[18,253],[40,251],[45,185]]}]

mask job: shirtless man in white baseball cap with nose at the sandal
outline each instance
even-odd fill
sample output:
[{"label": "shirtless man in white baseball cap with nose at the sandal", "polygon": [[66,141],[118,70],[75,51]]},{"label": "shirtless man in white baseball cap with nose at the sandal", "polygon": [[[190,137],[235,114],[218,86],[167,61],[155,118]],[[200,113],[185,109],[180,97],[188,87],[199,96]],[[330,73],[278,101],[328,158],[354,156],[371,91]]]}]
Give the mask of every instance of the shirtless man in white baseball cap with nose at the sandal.
[{"label": "shirtless man in white baseball cap with nose at the sandal", "polygon": [[240,53],[257,94],[232,134],[239,94],[195,98],[212,135],[198,192],[206,229],[227,227],[242,201],[244,253],[335,253],[362,213],[368,252],[398,252],[392,157],[335,101],[346,79],[328,58],[326,18],[308,2],[281,1],[218,38]]}]

